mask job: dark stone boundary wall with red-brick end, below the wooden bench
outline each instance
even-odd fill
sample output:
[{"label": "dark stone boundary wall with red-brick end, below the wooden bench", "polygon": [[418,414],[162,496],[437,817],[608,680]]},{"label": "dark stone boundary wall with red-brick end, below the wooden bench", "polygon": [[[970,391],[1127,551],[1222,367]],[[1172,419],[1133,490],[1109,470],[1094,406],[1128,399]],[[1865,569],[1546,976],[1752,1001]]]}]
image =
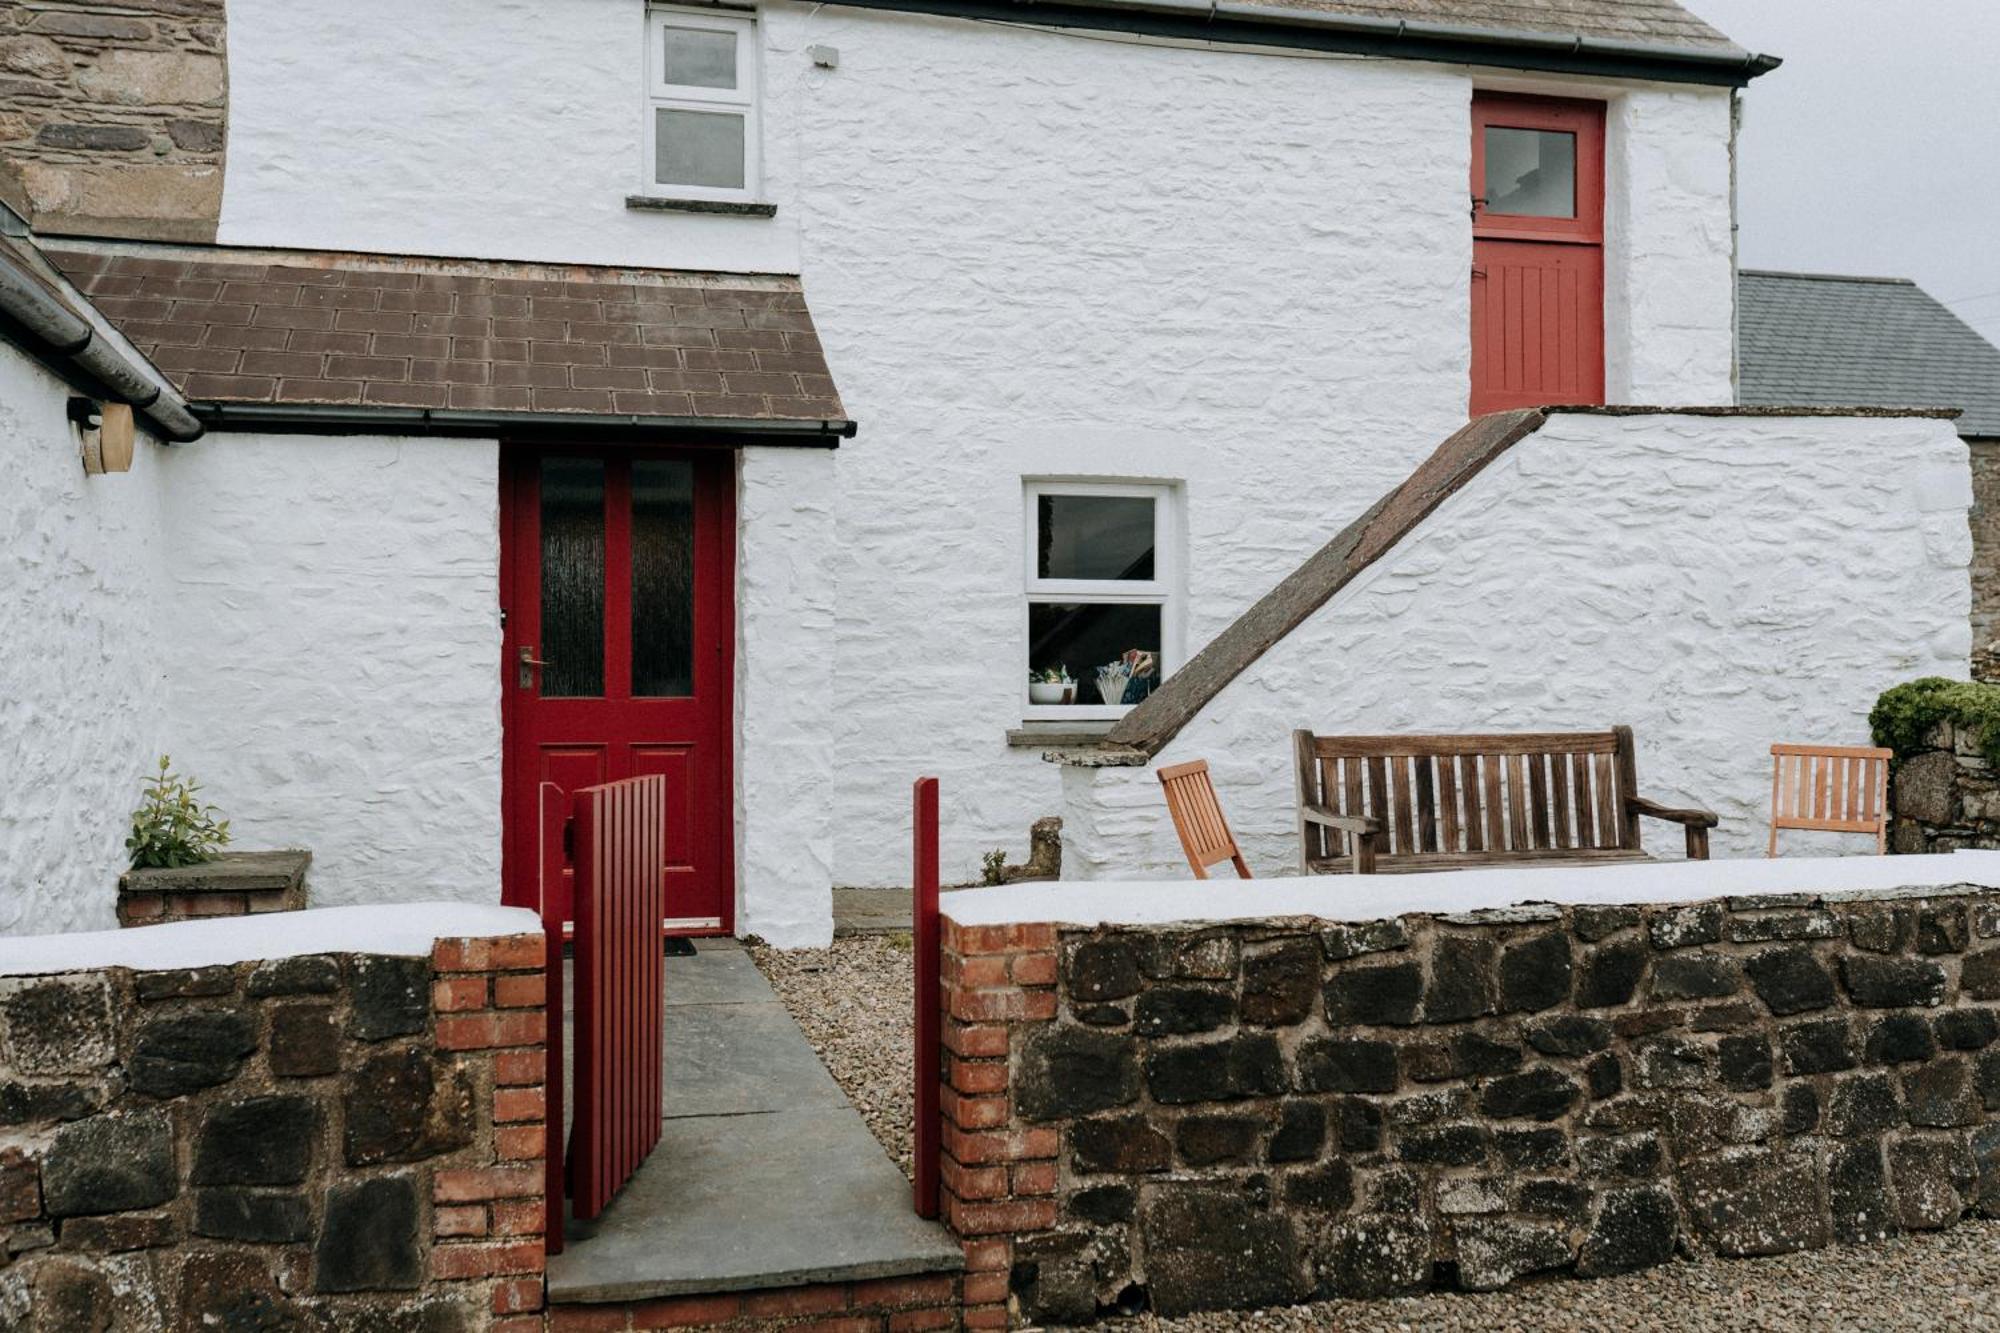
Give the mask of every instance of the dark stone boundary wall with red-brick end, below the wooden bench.
[{"label": "dark stone boundary wall with red-brick end, below the wooden bench", "polygon": [[[2000,1213],[2000,893],[944,925],[966,1327]],[[1004,1305],[1002,1305],[1004,1301]]]}]

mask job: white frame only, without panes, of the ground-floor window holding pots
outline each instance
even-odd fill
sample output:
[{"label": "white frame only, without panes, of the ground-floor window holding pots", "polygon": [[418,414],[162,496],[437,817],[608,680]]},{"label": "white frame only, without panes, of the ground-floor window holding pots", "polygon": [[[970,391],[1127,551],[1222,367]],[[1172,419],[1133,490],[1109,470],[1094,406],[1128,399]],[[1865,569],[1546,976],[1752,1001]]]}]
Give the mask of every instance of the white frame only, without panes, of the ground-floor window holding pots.
[{"label": "white frame only, without panes, of the ground-floor window holding pots", "polygon": [[[1036,570],[1040,550],[1040,498],[1044,494],[1088,494],[1152,500],[1152,578],[1042,578]],[[1020,691],[1022,721],[1028,723],[1106,723],[1116,721],[1138,705],[1034,705],[1028,703],[1028,624],[1032,606],[1066,604],[1118,604],[1118,606],[1158,606],[1160,608],[1160,681],[1164,683],[1180,666],[1180,560],[1178,522],[1180,486],[1164,480],[1062,480],[1024,478],[1022,480],[1022,600],[1018,620],[1018,648],[1014,654],[1014,681]],[[1096,691],[1094,681],[1078,681],[1078,699],[1084,691]],[[1158,687],[1154,687],[1158,689]]]}]

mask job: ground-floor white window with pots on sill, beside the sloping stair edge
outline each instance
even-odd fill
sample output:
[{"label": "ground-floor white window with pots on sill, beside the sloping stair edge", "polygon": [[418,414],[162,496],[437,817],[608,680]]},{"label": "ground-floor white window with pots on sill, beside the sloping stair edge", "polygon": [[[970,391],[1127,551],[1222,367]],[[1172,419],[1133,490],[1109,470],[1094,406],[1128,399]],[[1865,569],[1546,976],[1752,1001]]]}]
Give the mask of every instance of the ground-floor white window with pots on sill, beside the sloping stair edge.
[{"label": "ground-floor white window with pots on sill, beside the sloping stair edge", "polygon": [[1174,486],[1026,484],[1026,715],[1114,719],[1178,662]]}]

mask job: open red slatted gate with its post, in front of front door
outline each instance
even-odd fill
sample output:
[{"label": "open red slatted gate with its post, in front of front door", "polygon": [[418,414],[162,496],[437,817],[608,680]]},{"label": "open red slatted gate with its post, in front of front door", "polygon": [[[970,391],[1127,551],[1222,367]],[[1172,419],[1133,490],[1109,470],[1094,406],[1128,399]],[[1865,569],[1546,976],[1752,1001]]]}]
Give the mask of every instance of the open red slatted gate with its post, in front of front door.
[{"label": "open red slatted gate with its post, in front of front door", "polygon": [[[666,895],[666,779],[636,777],[584,787],[570,797],[566,837],[548,847],[544,787],[542,929],[550,965],[548,1065],[548,1249],[562,1253],[562,921],[576,925],[576,1115],[566,1155],[570,1211],[596,1217],[654,1145],[664,1109],[664,975],[660,915]],[[560,793],[558,793],[560,797]],[[562,845],[574,877],[560,889]],[[550,873],[550,867],[554,873]]]}]

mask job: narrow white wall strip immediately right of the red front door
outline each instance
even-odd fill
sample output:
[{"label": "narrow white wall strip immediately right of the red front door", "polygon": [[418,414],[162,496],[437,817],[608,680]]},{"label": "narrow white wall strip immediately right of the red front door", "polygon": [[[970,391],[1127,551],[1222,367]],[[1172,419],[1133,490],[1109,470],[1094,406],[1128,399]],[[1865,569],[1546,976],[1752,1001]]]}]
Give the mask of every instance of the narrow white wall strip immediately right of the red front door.
[{"label": "narrow white wall strip immediately right of the red front door", "polygon": [[834,466],[830,448],[750,446],[736,476],[736,933],[834,937]]}]

